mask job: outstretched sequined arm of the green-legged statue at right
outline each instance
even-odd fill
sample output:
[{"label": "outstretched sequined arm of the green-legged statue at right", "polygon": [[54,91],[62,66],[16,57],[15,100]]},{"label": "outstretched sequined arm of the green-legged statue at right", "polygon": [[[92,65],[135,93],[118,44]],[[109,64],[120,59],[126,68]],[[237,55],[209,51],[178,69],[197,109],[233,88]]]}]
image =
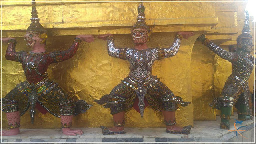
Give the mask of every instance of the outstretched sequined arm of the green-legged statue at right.
[{"label": "outstretched sequined arm of the green-legged statue at right", "polygon": [[215,54],[220,56],[221,58],[228,60],[229,62],[232,62],[233,60],[236,60],[238,58],[238,54],[236,52],[228,52],[221,47],[214,44],[212,41],[210,41],[208,38],[205,38],[204,35],[201,35],[198,40],[202,41],[202,43],[207,46],[210,50],[212,50]]}]

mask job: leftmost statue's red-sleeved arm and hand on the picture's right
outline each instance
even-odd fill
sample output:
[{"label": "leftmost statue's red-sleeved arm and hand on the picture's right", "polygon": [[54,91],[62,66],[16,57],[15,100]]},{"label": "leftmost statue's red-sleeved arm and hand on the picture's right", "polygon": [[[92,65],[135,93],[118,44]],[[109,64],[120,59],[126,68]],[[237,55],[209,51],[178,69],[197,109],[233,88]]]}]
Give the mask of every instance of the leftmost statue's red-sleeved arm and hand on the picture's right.
[{"label": "leftmost statue's red-sleeved arm and hand on the picture's right", "polygon": [[72,58],[76,54],[76,51],[78,50],[78,47],[82,40],[86,42],[93,42],[94,37],[92,35],[76,36],[76,38],[73,41],[73,44],[70,46],[68,50],[55,51],[50,53],[50,56],[53,58],[53,62],[58,63]]}]

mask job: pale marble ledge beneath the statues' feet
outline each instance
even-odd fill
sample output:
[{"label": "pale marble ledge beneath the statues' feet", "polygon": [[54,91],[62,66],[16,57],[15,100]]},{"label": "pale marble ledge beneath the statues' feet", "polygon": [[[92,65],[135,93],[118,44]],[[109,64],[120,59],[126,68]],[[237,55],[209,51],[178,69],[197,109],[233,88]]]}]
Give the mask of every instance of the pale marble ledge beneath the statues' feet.
[{"label": "pale marble ledge beneath the statues' feet", "polygon": [[[83,135],[65,136],[59,129],[21,129],[16,136],[2,136],[4,142],[254,142],[254,120],[236,123],[239,128],[236,136],[234,113],[230,120],[230,130],[219,128],[220,116],[216,121],[194,121],[189,135],[168,134],[166,128],[125,128],[126,134],[102,135],[101,128],[82,128]],[[240,121],[241,122],[241,121]]]}]

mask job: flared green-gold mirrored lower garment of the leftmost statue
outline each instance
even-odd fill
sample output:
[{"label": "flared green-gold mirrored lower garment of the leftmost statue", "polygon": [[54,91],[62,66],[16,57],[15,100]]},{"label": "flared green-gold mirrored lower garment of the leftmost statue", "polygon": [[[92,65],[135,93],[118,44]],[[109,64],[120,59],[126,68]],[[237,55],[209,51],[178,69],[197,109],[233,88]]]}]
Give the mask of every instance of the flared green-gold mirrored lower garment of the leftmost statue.
[{"label": "flared green-gold mirrored lower garment of the leftmost statue", "polygon": [[[48,78],[37,84],[21,82],[12,89],[2,101],[2,111],[20,111],[22,116],[28,108],[30,115],[35,113],[36,102],[56,117],[60,115],[77,115],[90,108],[84,100],[74,100],[64,89]],[[32,116],[34,117],[34,116]]]}]

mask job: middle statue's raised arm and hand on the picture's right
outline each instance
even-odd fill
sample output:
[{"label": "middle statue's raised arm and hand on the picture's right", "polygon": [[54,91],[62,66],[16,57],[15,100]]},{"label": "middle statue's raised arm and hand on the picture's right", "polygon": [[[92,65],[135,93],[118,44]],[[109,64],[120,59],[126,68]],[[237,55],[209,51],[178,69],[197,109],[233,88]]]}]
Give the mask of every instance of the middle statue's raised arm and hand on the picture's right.
[{"label": "middle statue's raised arm and hand on the picture's right", "polygon": [[190,36],[193,36],[194,32],[178,32],[174,38],[172,46],[169,48],[160,48],[158,52],[158,59],[170,58],[175,56],[178,53],[180,48],[180,42],[182,38],[188,39]]}]

